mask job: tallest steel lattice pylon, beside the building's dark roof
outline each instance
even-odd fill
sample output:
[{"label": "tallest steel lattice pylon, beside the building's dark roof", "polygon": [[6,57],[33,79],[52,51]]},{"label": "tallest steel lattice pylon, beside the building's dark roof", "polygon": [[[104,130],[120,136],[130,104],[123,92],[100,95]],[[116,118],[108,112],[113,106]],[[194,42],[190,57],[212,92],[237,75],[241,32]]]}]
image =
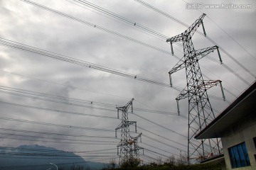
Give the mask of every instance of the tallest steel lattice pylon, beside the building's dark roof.
[{"label": "tallest steel lattice pylon, beside the building's dark roof", "polygon": [[168,38],[166,42],[171,44],[171,53],[174,55],[173,43],[182,42],[184,55],[181,60],[171,69],[169,72],[170,84],[172,86],[171,74],[178,72],[179,70],[186,69],[186,87],[181,91],[176,98],[178,114],[180,114],[178,101],[183,98],[188,98],[188,163],[191,159],[201,161],[206,159],[209,155],[220,154],[222,152],[222,146],[220,139],[210,140],[194,140],[194,136],[203,130],[214,118],[213,109],[210,105],[207,90],[217,84],[220,84],[220,88],[223,93],[223,87],[220,80],[204,80],[198,61],[208,55],[214,50],[218,51],[220,63],[220,52],[218,46],[206,47],[201,50],[195,50],[193,47],[192,36],[196,32],[196,29],[202,25],[203,33],[206,36],[206,30],[203,26],[203,18],[205,13],[201,15],[187,30],[183,33],[176,35],[172,38]]}]

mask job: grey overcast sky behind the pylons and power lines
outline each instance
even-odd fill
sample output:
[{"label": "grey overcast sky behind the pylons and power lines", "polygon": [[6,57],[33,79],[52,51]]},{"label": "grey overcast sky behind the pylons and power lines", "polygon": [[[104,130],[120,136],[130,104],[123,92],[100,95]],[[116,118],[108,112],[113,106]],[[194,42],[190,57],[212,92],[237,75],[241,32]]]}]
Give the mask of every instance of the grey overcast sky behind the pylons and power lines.
[{"label": "grey overcast sky behind the pylons and power lines", "polygon": [[[202,13],[207,15],[203,23],[208,37],[195,33],[195,49],[216,44],[222,49],[223,64],[210,60],[218,61],[217,52],[199,62],[204,79],[223,81],[226,101],[221,100],[220,87],[208,91],[215,114],[255,81],[255,1],[214,2],[251,8],[207,8],[213,2],[186,1],[189,5],[202,4],[198,9],[185,1],[145,1],[172,18],[133,0],[90,1],[115,13],[116,18],[78,1],[32,2],[46,7],[38,8],[28,1],[0,1],[1,147],[37,144],[70,151],[111,149],[108,157],[101,152],[95,152],[100,157],[81,155],[95,161],[117,157],[119,139],[115,139],[114,129],[121,120],[117,119],[115,106],[124,106],[134,98],[137,109],[129,113],[129,120],[137,121],[138,132],[143,134],[139,146],[147,149],[145,154],[154,158],[186,154],[188,100],[180,101],[181,115],[176,115],[179,91],[100,69],[169,84],[168,72],[178,62],[177,57],[183,56],[183,48],[174,44],[172,56],[166,38],[182,33]],[[151,30],[160,35],[153,35]],[[203,31],[202,27],[198,30]],[[16,42],[51,57],[10,47]],[[75,64],[63,61],[67,57]],[[99,69],[88,67],[88,62]],[[174,86],[183,89],[185,70],[176,72],[172,79]],[[130,128],[131,135],[136,136],[134,127]],[[144,162],[149,160],[145,158]]]}]

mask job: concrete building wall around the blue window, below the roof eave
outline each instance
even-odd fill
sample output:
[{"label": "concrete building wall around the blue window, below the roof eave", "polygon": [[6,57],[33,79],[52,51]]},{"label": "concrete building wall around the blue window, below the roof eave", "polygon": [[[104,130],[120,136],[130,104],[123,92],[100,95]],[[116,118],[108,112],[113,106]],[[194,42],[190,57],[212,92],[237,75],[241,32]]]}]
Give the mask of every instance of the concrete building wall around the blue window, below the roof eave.
[{"label": "concrete building wall around the blue window, below the roof eave", "polygon": [[256,149],[255,149],[255,144],[253,142],[253,137],[256,137],[256,112],[248,115],[247,117],[240,120],[239,123],[236,123],[229,129],[225,130],[225,132],[223,132],[223,136],[225,137],[222,137],[221,140],[223,143],[226,169],[232,169],[230,164],[230,157],[228,154],[228,148],[238,145],[241,142],[245,142],[251,166],[236,168],[236,170],[240,170],[240,169],[255,170],[256,169],[256,161],[255,161]]}]

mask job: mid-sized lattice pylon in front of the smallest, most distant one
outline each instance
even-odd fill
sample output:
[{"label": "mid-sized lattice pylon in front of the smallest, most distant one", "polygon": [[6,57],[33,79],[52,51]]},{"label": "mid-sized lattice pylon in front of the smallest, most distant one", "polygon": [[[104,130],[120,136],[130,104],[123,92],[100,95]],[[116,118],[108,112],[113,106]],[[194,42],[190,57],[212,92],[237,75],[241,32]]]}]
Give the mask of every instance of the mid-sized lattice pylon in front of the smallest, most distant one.
[{"label": "mid-sized lattice pylon in front of the smallest, most distant one", "polygon": [[[119,154],[119,164],[123,164],[125,162],[129,162],[129,160],[133,157],[133,148],[132,148],[132,138],[129,134],[129,125],[135,124],[135,132],[137,132],[137,122],[136,121],[129,121],[128,119],[128,109],[131,106],[132,113],[133,113],[133,106],[132,102],[129,101],[125,106],[117,107],[117,118],[119,118],[119,111],[122,111],[122,122],[115,128],[116,137],[117,137],[117,130],[121,129],[121,142],[117,145],[117,154]],[[120,152],[119,152],[120,147]]]}]

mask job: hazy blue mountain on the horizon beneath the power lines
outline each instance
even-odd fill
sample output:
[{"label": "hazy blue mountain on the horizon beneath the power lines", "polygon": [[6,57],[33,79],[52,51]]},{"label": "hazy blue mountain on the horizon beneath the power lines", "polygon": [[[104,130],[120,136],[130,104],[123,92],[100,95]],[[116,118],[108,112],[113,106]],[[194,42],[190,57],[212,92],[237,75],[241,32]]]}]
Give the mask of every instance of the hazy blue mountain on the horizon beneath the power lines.
[{"label": "hazy blue mountain on the horizon beneath the power lines", "polygon": [[0,147],[0,169],[55,169],[50,163],[57,164],[60,169],[70,169],[73,164],[90,167],[91,169],[102,169],[105,164],[97,162],[85,162],[82,157],[72,153],[64,152],[52,147],[39,145],[21,145],[16,148]]}]

